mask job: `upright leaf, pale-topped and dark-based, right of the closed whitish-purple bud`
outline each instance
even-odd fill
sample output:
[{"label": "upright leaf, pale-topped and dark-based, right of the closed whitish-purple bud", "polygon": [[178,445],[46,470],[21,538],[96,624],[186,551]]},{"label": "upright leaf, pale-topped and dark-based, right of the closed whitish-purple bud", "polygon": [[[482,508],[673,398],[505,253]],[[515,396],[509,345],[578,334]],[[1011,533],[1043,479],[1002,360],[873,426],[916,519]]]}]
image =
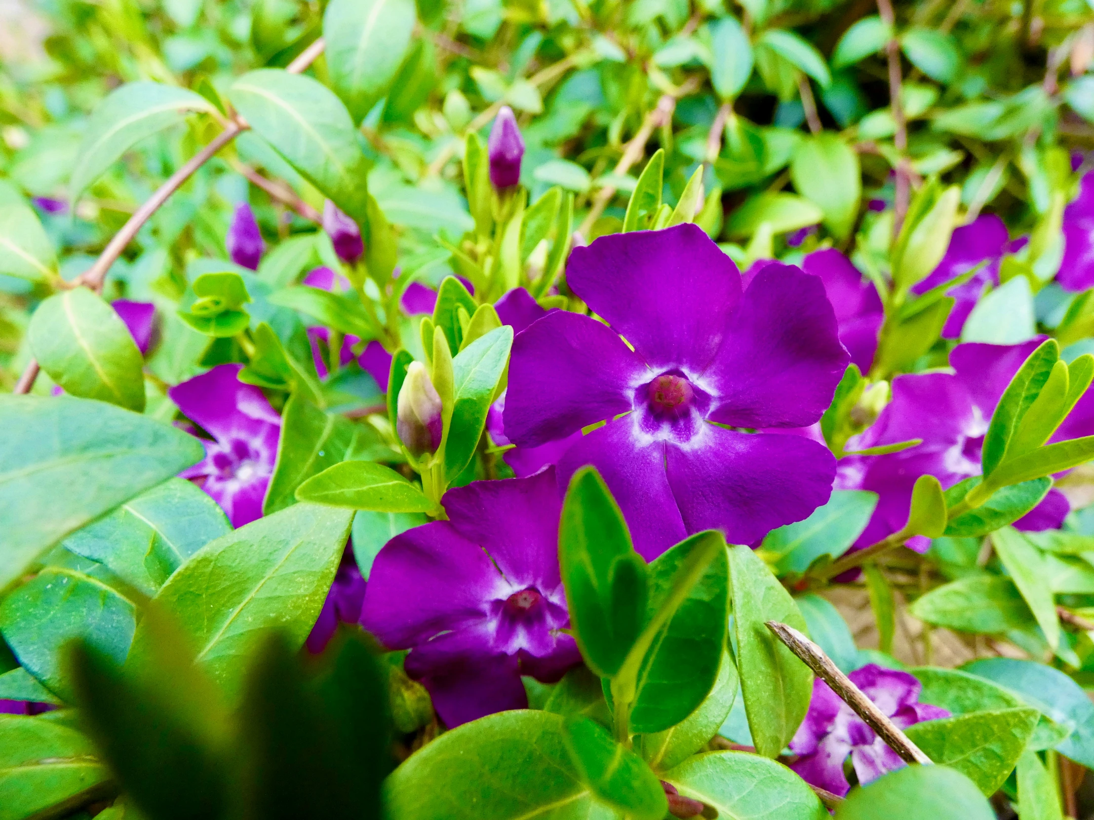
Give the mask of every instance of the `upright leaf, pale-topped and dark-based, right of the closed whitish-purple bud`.
[{"label": "upright leaf, pale-topped and dark-based, right of the closed whitish-purple bud", "polygon": [[452,418],[444,431],[444,476],[447,481],[463,472],[475,457],[486,426],[486,415],[505,372],[512,345],[513,328],[503,325],[476,339],[452,360]]}]

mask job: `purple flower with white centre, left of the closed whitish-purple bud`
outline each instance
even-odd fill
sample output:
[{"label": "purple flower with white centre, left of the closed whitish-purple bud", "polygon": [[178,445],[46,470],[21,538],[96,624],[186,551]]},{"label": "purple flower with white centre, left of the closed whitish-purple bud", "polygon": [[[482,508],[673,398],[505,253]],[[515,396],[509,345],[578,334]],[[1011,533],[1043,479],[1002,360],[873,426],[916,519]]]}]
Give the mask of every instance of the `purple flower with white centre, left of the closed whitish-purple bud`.
[{"label": "purple flower with white centre, left of the closed whitish-purple bud", "polygon": [[201,479],[201,489],[220,504],[233,527],[261,518],[281,432],[281,418],[261,390],[240,382],[242,367],[219,364],[167,391],[178,409],[213,437],[201,440],[206,457],[179,475]]}]

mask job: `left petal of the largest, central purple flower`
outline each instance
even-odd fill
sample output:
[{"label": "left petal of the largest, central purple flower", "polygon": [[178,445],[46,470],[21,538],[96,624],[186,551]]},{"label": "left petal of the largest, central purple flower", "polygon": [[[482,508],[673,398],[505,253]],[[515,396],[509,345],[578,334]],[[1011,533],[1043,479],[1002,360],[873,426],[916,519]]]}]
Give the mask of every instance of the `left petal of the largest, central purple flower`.
[{"label": "left petal of the largest, central purple flower", "polygon": [[505,435],[536,447],[626,412],[647,374],[642,360],[595,319],[561,311],[545,316],[513,340]]}]

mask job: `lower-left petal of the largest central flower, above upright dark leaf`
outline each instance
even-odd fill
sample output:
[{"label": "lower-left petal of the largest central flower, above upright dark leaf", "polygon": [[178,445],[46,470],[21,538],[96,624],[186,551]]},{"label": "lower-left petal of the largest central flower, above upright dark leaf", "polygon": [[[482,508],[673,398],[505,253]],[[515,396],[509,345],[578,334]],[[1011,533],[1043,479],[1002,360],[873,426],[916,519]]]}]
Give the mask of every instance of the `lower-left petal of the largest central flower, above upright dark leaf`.
[{"label": "lower-left petal of the largest central flower, above upright dark leaf", "polygon": [[570,477],[587,464],[604,477],[622,509],[635,549],[647,561],[687,537],[665,476],[665,445],[638,444],[629,417],[609,421],[567,450],[558,464],[559,488],[565,491]]}]

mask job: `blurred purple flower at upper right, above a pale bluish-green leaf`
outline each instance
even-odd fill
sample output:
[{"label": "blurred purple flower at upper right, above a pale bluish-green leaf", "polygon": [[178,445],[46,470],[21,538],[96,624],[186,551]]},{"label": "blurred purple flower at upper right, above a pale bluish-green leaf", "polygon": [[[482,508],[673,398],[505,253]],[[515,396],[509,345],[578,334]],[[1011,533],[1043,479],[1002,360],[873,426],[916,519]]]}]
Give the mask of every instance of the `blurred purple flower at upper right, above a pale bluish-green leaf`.
[{"label": "blurred purple flower at upper right, above a pale bluish-green leaf", "polygon": [[927,279],[915,284],[911,292],[926,293],[973,270],[981,262],[987,263],[967,282],[946,292],[946,295],[954,297],[954,306],[942,328],[942,338],[961,338],[965,320],[984,295],[985,288],[989,284],[991,286],[999,284],[999,263],[1006,254],[1017,250],[1021,244],[1024,244],[1024,239],[1019,241],[1016,246],[1010,243],[1006,225],[994,214],[977,216],[971,223],[954,231],[950,238],[950,247],[946,248],[939,267],[931,271]]}]

